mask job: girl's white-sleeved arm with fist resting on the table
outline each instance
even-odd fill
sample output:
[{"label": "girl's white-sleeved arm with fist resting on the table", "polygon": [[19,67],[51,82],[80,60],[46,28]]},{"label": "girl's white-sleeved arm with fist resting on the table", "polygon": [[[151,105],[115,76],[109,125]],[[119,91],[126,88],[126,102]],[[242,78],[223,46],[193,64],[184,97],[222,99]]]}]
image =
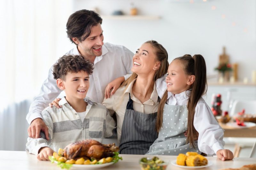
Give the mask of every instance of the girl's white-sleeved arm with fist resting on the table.
[{"label": "girl's white-sleeved arm with fist resting on the table", "polygon": [[210,107],[204,101],[196,106],[194,127],[199,133],[198,148],[201,152],[210,155],[216,154],[221,160],[233,159],[233,153],[224,149],[224,130],[220,127]]}]

